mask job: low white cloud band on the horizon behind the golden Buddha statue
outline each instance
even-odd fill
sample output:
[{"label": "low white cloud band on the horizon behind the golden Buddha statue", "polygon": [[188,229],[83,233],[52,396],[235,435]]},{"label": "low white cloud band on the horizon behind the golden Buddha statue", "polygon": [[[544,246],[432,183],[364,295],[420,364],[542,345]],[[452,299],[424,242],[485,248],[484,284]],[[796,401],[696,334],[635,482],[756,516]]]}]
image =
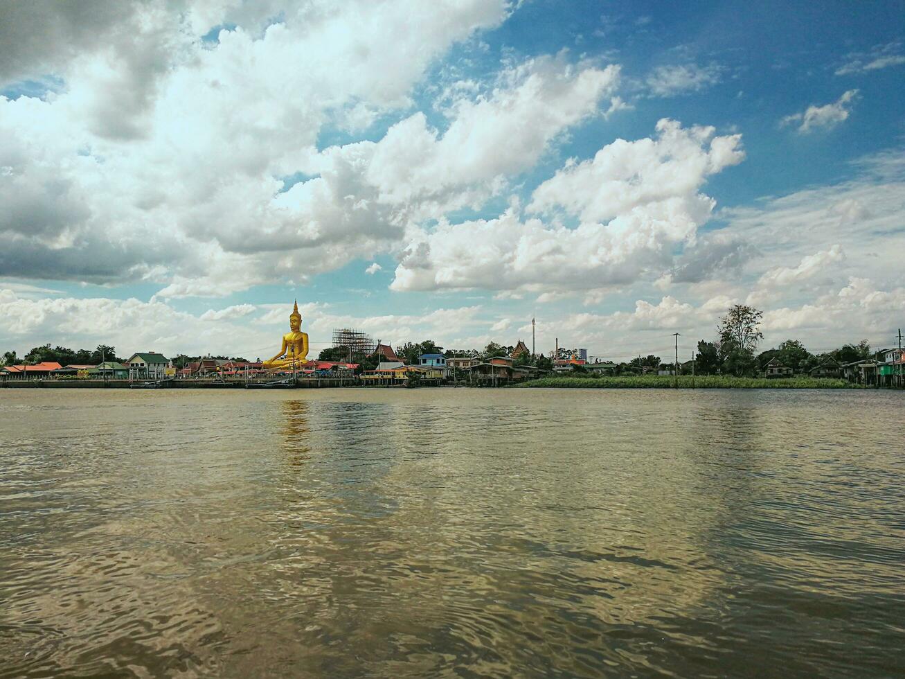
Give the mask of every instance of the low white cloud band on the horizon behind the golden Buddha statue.
[{"label": "low white cloud band on the horizon behind the golden Buddha statue", "polygon": [[[261,317],[255,311],[264,310]],[[26,298],[0,289],[0,345],[20,355],[33,346],[52,342],[71,348],[111,344],[120,354],[156,350],[167,356],[228,354],[258,358],[280,349],[281,334],[289,328],[291,304],[236,304],[200,316],[177,311],[166,301],[107,298]],[[386,314],[356,317],[337,313],[320,302],[299,305],[302,330],[310,335],[311,355],[330,346],[334,328],[354,327],[393,344],[409,339],[434,339],[445,346],[472,346],[471,339],[486,332],[495,319],[482,318],[478,306],[435,309],[424,314]]]}]

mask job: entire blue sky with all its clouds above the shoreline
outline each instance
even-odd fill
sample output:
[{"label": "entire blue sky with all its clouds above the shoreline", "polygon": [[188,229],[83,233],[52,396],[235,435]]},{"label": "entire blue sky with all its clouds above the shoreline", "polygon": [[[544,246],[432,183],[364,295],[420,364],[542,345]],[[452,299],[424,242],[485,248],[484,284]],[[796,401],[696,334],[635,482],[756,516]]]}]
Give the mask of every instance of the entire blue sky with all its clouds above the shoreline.
[{"label": "entire blue sky with all its clouds above the shoreline", "polygon": [[295,297],[315,348],[905,325],[900,3],[34,11],[0,9],[2,349],[264,355]]}]

